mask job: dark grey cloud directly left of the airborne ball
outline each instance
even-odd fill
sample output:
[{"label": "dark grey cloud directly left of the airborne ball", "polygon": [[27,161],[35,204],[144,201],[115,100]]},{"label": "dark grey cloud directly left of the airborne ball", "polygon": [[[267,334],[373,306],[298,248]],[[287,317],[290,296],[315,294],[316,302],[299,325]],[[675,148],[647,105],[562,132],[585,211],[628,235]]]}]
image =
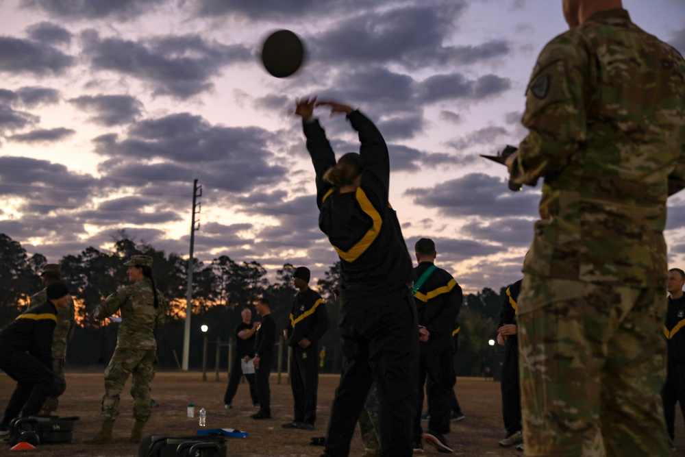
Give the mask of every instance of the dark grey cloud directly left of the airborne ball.
[{"label": "dark grey cloud directly left of the airborne ball", "polygon": [[84,55],[95,69],[129,75],[149,84],[153,95],[188,99],[214,88],[211,78],[224,66],[253,58],[240,45],[208,42],[197,35],[149,40],[100,38],[94,30],[82,34]]}]

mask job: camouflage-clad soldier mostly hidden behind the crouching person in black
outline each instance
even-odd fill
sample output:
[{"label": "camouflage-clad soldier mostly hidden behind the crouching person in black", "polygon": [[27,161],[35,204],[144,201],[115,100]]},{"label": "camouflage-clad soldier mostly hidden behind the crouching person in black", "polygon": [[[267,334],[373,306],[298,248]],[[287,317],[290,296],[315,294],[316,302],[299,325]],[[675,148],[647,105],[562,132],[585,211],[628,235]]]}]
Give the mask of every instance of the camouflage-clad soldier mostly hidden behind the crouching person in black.
[{"label": "camouflage-clad soldier mostly hidden behind the crouching person in black", "polygon": [[[47,301],[47,286],[62,279],[62,271],[58,264],[46,264],[40,273],[42,278],[43,290],[32,295],[29,299],[29,308],[42,305]],[[52,372],[64,378],[64,358],[66,358],[66,345],[69,344],[74,336],[76,328],[74,300],[69,295],[69,308],[57,310],[57,325],[52,335]],[[50,415],[57,410],[59,405],[58,397],[47,397],[45,404],[40,411],[42,415]]]}]

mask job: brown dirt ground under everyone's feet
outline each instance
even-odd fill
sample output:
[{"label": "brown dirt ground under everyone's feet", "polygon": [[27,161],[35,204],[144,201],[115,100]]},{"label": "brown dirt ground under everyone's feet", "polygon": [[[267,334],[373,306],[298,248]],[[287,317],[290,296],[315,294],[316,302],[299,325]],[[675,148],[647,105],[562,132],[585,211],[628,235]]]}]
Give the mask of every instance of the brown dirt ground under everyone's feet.
[{"label": "brown dirt ground under everyone's feet", "polygon": [[[322,447],[309,445],[312,436],[325,435],[330,404],[334,390],[338,385],[337,375],[321,375],[319,380],[319,421],[316,430],[285,430],[282,423],[292,420],[292,394],[286,384],[277,383],[276,375],[271,377],[271,421],[255,421],[250,415],[256,412],[251,406],[247,384],[238,388],[234,399],[234,408],[227,410],[223,406],[223,393],[227,378],[214,380],[214,373],[208,374],[208,381],[202,381],[201,373],[157,373],[153,381],[153,399],[160,406],[153,408],[153,415],[145,429],[147,433],[160,432],[169,436],[194,435],[197,426],[197,412],[200,408],[207,411],[208,428],[235,428],[249,433],[247,439],[229,439],[230,456],[319,456]],[[75,415],[77,421],[72,444],[41,445],[34,456],[136,456],[136,445],[127,443],[133,425],[133,401],[128,391],[121,398],[119,419],[114,425],[114,443],[106,446],[85,445],[99,430],[99,407],[104,387],[102,373],[68,373],[67,390],[60,398],[60,415]],[[127,384],[127,389],[130,386]],[[14,382],[4,373],[0,373],[0,408],[7,404]],[[503,449],[497,442],[503,438],[504,430],[501,421],[501,402],[499,383],[480,378],[458,378],[455,386],[457,397],[466,419],[452,423],[447,441],[456,455],[461,456],[521,456],[515,449]],[[186,406],[195,404],[195,418],[186,417]],[[685,428],[680,412],[676,417],[676,446],[681,451],[674,455],[685,456]],[[364,447],[356,433],[351,447],[351,456],[362,456]],[[425,455],[438,454],[428,446]],[[21,455],[9,452],[9,447],[0,442],[0,456]]]}]

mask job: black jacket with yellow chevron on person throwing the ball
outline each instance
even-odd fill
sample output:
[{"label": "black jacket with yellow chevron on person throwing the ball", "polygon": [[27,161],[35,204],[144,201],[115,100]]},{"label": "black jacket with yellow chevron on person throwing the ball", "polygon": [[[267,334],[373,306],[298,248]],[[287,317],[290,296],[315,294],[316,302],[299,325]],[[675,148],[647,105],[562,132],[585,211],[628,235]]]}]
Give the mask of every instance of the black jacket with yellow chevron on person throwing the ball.
[{"label": "black jacket with yellow chevron on person throwing the ball", "polygon": [[340,256],[343,299],[377,297],[406,288],[414,279],[412,260],[388,202],[390,159],[383,136],[359,111],[347,115],[359,133],[362,184],[340,193],[323,180],[336,158],[319,121],[303,123],[307,149],[316,171],[319,228]]}]

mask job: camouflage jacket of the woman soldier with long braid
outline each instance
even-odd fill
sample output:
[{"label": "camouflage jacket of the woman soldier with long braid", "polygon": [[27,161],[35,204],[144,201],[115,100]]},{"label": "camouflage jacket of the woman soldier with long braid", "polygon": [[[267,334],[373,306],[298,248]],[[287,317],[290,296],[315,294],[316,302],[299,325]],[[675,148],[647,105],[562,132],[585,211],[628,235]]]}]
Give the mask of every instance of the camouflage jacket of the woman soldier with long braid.
[{"label": "camouflage jacket of the woman soldier with long braid", "polygon": [[152,282],[146,278],[125,286],[105,299],[93,312],[95,319],[105,319],[121,310],[116,347],[157,349],[154,331],[164,325],[166,301],[157,291],[159,307],[155,308]]}]

